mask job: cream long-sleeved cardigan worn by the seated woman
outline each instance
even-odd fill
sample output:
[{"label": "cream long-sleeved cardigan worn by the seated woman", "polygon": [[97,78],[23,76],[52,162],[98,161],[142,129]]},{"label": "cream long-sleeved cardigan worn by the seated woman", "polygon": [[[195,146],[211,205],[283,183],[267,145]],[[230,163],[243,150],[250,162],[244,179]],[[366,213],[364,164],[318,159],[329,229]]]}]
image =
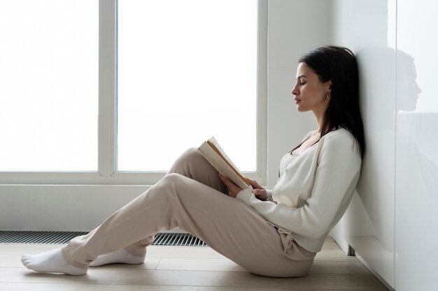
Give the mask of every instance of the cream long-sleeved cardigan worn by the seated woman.
[{"label": "cream long-sleeved cardigan worn by the seated woman", "polygon": [[250,189],[236,197],[282,232],[289,232],[307,251],[317,253],[353,197],[362,164],[360,151],[353,135],[339,128],[302,154],[286,156],[288,165],[268,191],[277,204],[258,200]]}]

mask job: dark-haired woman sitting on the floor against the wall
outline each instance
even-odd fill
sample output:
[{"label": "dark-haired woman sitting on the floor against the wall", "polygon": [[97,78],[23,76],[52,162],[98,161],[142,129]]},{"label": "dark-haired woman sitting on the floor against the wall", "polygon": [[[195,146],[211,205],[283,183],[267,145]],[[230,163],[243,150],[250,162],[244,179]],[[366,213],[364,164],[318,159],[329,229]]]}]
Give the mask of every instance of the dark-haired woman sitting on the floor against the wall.
[{"label": "dark-haired woman sitting on the floor against the wall", "polygon": [[140,264],[154,234],[180,227],[254,274],[303,276],[360,175],[365,142],[351,51],[328,46],[305,54],[292,95],[318,128],[283,156],[272,191],[249,179],[253,190],[241,190],[190,149],[95,230],[54,251],[23,255],[24,266],[83,275],[89,266]]}]

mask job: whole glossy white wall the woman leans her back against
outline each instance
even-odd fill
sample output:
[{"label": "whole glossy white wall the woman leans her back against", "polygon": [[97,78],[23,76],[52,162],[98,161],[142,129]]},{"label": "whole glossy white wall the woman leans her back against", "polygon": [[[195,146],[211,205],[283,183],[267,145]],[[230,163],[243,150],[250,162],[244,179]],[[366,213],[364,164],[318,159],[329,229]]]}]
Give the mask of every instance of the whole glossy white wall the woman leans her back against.
[{"label": "whole glossy white wall the woman leans her back against", "polygon": [[333,3],[334,40],[358,57],[368,151],[332,235],[390,288],[437,290],[438,5]]}]

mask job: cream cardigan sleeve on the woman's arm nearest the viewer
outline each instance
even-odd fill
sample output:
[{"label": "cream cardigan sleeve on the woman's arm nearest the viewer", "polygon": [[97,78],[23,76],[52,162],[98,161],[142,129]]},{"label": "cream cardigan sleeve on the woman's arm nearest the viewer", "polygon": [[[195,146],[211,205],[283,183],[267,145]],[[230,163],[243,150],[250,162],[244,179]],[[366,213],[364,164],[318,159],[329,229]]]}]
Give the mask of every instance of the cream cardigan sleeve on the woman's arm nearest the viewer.
[{"label": "cream cardigan sleeve on the woman's arm nearest the viewer", "polygon": [[[305,237],[322,237],[334,218],[339,216],[341,204],[349,201],[360,175],[360,154],[351,137],[345,136],[332,135],[320,140],[323,144],[319,144],[311,195],[302,207],[260,201],[247,190],[241,191],[236,197],[278,227]],[[302,173],[302,176],[306,174]]]}]

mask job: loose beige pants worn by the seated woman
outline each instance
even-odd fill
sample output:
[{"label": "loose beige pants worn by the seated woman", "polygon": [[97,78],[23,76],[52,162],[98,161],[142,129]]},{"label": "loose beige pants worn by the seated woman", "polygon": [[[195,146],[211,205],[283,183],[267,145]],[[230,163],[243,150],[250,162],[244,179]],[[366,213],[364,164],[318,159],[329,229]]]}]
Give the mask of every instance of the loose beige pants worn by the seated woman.
[{"label": "loose beige pants worn by the seated woman", "polygon": [[97,256],[120,248],[144,256],[154,234],[179,227],[254,274],[307,273],[315,253],[298,246],[290,234],[279,233],[245,202],[224,193],[227,188],[218,172],[190,149],[148,191],[64,246],[64,257],[86,268]]}]

